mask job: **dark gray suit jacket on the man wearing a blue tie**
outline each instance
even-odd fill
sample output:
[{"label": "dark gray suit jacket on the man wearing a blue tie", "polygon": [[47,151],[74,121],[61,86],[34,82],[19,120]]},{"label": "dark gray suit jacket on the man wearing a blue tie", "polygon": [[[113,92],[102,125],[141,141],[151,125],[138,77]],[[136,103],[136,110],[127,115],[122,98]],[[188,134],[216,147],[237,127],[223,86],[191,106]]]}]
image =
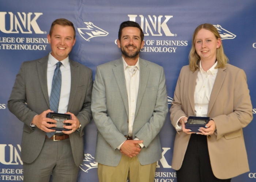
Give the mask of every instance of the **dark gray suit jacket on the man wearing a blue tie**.
[{"label": "dark gray suit jacket on the man wearing a blue tie", "polygon": [[[46,132],[30,123],[35,115],[48,110],[49,96],[47,90],[48,55],[44,58],[22,63],[16,76],[15,84],[8,100],[9,110],[24,123],[22,135],[21,159],[31,163],[39,155],[45,141]],[[69,60],[71,69],[71,90],[68,110],[82,125],[80,133],[69,135],[74,161],[79,166],[84,157],[83,128],[92,119],[91,91],[93,86],[92,71],[78,62]]]}]

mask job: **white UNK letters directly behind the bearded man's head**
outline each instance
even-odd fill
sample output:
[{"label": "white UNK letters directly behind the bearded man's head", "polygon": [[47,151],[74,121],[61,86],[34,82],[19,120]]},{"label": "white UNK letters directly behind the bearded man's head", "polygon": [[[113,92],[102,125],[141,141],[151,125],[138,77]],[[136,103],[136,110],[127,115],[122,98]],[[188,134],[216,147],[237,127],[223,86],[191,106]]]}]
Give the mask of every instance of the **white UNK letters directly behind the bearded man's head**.
[{"label": "white UNK letters directly behind the bearded man's head", "polygon": [[173,34],[169,27],[167,26],[167,22],[173,17],[169,15],[160,15],[160,16],[150,16],[144,17],[143,15],[128,15],[130,21],[135,21],[136,19],[140,19],[140,27],[142,28],[144,35],[148,36],[149,33],[152,36],[162,36],[162,32],[165,33],[165,36],[177,36],[177,34]]}]

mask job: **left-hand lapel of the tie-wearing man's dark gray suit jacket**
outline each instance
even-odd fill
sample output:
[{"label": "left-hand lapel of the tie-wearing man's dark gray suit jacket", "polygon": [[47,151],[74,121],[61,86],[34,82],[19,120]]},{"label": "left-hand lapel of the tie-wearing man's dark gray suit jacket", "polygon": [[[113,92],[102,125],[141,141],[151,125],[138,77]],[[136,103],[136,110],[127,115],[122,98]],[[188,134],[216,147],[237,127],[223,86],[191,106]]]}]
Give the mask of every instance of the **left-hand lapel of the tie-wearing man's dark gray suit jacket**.
[{"label": "left-hand lapel of the tie-wearing man's dark gray suit jacket", "polygon": [[48,64],[48,55],[38,60],[37,71],[38,71],[39,83],[41,85],[41,90],[43,92],[46,103],[50,108],[48,87],[47,87],[47,64]]}]

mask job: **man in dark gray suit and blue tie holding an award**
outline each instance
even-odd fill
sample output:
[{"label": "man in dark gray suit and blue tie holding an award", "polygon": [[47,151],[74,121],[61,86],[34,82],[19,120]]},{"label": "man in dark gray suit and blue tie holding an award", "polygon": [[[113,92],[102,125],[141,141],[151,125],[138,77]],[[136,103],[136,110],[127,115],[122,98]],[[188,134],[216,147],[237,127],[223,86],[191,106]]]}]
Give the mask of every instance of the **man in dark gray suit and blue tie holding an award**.
[{"label": "man in dark gray suit and blue tie holding an award", "polygon": [[[75,28],[71,21],[53,21],[48,35],[52,52],[44,58],[24,62],[21,65],[8,101],[9,110],[24,123],[21,159],[24,181],[46,182],[52,173],[53,181],[77,180],[79,165],[83,161],[83,128],[92,119],[91,90],[92,71],[69,59],[75,44]],[[56,121],[46,118],[50,110],[50,95],[54,87],[56,64],[61,62],[61,88],[59,113],[70,114],[71,119],[52,137]],[[52,122],[53,124],[49,124]]]}]

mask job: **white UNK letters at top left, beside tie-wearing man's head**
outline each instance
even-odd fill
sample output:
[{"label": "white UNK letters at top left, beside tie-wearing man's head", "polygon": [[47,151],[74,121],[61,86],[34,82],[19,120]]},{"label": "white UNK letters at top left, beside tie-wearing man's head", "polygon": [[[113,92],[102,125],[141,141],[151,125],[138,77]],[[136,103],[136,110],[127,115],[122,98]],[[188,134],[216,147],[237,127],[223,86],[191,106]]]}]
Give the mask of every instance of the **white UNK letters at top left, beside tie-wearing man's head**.
[{"label": "white UNK letters at top left, beside tie-wearing man's head", "polygon": [[20,13],[16,15],[12,12],[0,12],[0,31],[3,33],[32,33],[32,29],[37,34],[46,33],[41,31],[37,24],[37,19],[43,13]]}]

